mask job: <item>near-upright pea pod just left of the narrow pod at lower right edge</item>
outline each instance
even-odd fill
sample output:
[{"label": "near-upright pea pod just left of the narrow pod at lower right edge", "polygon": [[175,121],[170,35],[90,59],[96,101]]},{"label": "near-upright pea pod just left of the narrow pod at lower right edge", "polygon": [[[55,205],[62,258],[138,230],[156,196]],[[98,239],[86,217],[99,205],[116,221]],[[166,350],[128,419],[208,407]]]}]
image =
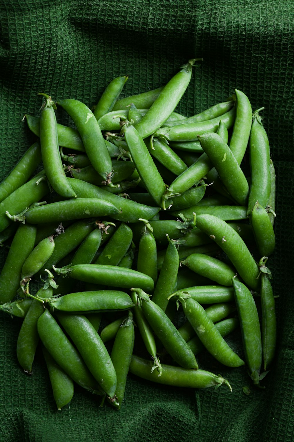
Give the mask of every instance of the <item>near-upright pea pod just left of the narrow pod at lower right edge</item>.
[{"label": "near-upright pea pod just left of the narrow pod at lower right edge", "polygon": [[[259,384],[261,370],[261,328],[257,308],[250,290],[235,278],[232,280],[240,321],[245,360],[254,384]],[[257,373],[257,375],[255,374]]]}]

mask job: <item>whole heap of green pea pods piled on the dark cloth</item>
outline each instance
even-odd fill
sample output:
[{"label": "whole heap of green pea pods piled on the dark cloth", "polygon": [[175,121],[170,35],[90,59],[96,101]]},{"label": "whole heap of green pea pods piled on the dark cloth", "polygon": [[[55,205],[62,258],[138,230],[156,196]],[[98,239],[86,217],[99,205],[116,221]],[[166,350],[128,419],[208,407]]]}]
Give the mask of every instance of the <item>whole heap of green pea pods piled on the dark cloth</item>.
[{"label": "whole heap of green pea pods piled on the dark cloth", "polygon": [[[129,372],[231,390],[198,368],[205,350],[245,365],[262,388],[276,333],[264,108],[253,112],[236,89],[190,118],[176,113],[196,61],[123,99],[127,76],[115,78],[93,111],[40,93],[41,115],[25,115],[36,142],[0,183],[0,309],[23,318],[26,373],[43,352],[59,410],[74,383],[120,408]],[[56,122],[56,108],[72,127]],[[224,339],[236,328],[245,361]]]}]

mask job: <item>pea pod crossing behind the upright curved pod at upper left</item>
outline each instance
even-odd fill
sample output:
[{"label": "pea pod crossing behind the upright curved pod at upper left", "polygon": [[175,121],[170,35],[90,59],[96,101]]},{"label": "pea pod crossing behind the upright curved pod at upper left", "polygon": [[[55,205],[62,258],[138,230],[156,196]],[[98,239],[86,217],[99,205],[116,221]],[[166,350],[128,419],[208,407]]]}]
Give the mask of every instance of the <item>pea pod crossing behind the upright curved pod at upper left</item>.
[{"label": "pea pod crossing behind the upright curved pod at upper left", "polygon": [[[30,130],[40,137],[40,118],[25,115]],[[57,123],[58,144],[79,152],[85,152],[82,138],[76,129]]]}]

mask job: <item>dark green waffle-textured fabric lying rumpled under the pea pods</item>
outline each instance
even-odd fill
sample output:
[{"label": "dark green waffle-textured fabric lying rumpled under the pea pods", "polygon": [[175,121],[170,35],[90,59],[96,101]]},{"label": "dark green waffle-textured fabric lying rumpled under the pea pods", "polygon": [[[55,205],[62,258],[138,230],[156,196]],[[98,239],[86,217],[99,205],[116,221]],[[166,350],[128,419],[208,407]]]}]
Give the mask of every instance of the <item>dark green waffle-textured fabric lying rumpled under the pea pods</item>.
[{"label": "dark green waffle-textured fabric lying rumpled under the pea pods", "polygon": [[[16,359],[21,320],[0,315],[0,440],[3,441],[293,441],[294,439],[294,4],[288,0],[3,0],[0,3],[0,177],[33,142],[22,122],[41,99],[76,98],[92,107],[116,76],[122,96],[167,82],[191,57],[203,57],[178,110],[190,116],[234,88],[264,106],[277,175],[276,249],[268,261],[276,295],[278,347],[265,390],[251,389],[243,367],[209,355],[199,364],[232,385],[175,389],[129,376],[118,412],[76,387],[57,411],[37,355],[33,376]],[[62,112],[57,117],[61,122]],[[65,116],[63,122],[67,123]],[[2,248],[1,267],[7,250]],[[242,354],[241,339],[229,338]]]}]

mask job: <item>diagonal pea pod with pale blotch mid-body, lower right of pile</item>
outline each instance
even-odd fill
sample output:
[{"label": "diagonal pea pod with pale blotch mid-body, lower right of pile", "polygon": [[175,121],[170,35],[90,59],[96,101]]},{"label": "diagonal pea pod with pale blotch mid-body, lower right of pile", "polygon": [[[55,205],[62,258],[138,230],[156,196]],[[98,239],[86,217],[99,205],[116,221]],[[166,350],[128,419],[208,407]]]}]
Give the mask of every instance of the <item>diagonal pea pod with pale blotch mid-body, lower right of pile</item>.
[{"label": "diagonal pea pod with pale blotch mid-body, lower right of pile", "polygon": [[[198,338],[217,361],[228,367],[239,367],[244,361],[226,343],[205,309],[189,295],[183,295],[182,308]],[[192,313],[193,312],[193,313]]]}]

